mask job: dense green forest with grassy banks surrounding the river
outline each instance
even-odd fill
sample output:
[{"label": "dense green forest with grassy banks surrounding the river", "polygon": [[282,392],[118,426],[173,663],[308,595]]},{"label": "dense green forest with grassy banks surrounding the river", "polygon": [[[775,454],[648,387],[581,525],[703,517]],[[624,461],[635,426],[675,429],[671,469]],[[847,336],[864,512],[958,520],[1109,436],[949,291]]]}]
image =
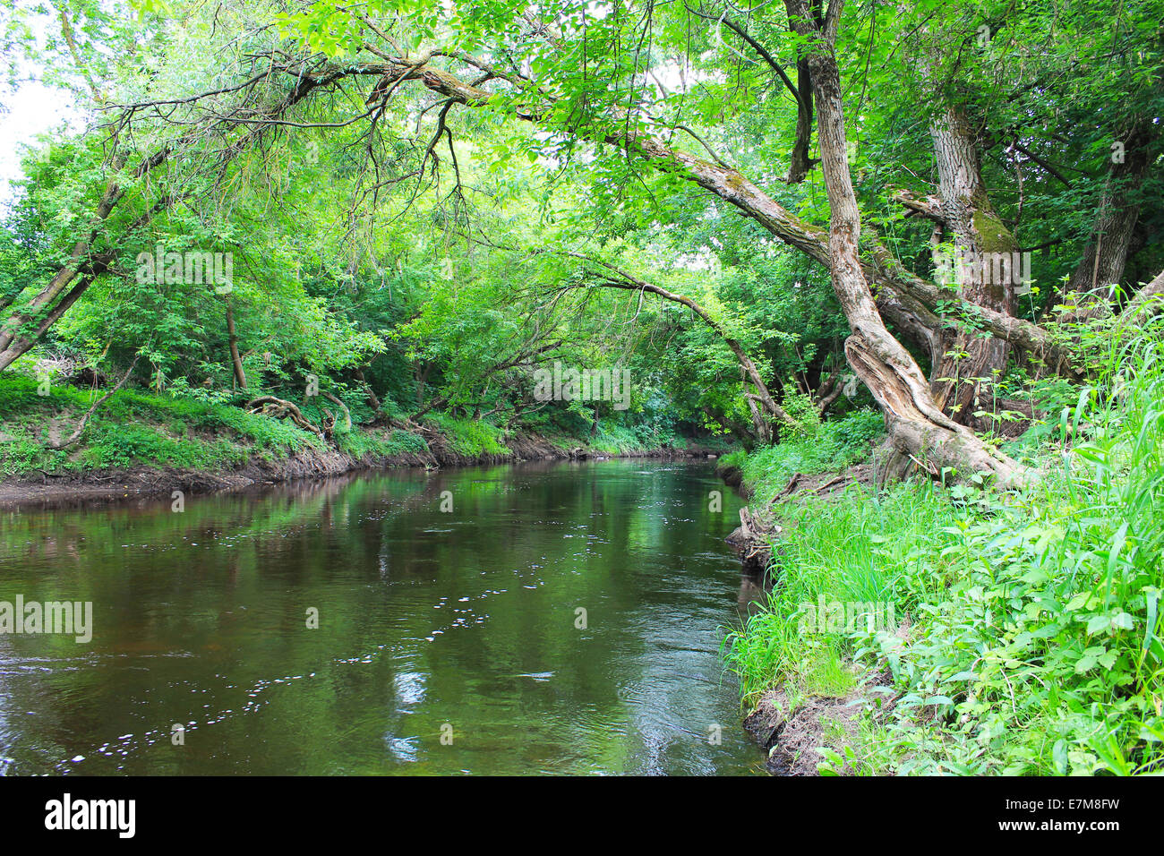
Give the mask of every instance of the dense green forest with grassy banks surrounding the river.
[{"label": "dense green forest with grassy banks surrounding the river", "polygon": [[773,763],[1162,770],[1164,0],[0,15],[10,483],[728,453]]}]

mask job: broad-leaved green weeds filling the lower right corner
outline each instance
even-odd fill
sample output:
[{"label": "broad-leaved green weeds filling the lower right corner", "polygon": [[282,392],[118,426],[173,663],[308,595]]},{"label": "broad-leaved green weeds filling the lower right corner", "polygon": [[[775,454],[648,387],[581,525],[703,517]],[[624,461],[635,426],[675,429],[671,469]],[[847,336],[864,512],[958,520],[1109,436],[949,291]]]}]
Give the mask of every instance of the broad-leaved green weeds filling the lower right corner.
[{"label": "broad-leaved green weeds filling the lower right corner", "polygon": [[1142,338],[1063,410],[1077,445],[1042,490],[952,491],[971,501],[945,529],[950,588],[908,639],[879,637],[906,687],[899,723],[923,723],[893,729],[900,771],[1164,769],[1162,360],[1164,340]]}]

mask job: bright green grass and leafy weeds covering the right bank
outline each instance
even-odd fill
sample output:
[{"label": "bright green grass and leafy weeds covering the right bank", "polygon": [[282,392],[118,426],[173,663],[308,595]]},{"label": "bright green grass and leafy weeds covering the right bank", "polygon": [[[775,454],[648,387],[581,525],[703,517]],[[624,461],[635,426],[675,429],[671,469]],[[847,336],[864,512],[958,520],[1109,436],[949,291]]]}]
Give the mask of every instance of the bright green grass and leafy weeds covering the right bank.
[{"label": "bright green grass and leafy weeds covering the right bank", "polygon": [[[854,730],[857,772],[1164,771],[1164,339],[1110,367],[1050,420],[1036,487],[904,483],[782,507],[767,609],[725,643],[746,699],[822,692],[831,651],[888,666],[900,695]],[[766,471],[758,493],[783,475]],[[900,627],[805,632],[822,595],[890,601]]]}]

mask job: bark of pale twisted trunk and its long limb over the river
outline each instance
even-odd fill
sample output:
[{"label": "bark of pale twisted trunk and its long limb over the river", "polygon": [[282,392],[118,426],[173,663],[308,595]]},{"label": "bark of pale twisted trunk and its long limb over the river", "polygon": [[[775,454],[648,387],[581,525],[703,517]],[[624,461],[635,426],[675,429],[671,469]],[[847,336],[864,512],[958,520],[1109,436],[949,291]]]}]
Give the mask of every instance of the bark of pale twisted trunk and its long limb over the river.
[{"label": "bark of pale twisted trunk and its long limb over the river", "polygon": [[[942,299],[937,286],[927,288],[916,276],[907,276],[883,247],[875,247],[876,252],[868,262],[864,262],[858,255],[860,214],[849,175],[840,78],[832,52],[843,3],[833,2],[829,6],[823,27],[810,16],[804,0],[786,0],[786,6],[794,29],[811,43],[809,72],[816,94],[817,133],[832,210],[826,239],[821,229],[809,226],[776,204],[737,170],[669,149],[658,139],[634,132],[608,133],[602,139],[714,192],[754,218],[789,246],[829,267],[833,290],[851,330],[845,342],[846,358],[881,405],[890,440],[900,452],[911,457],[932,457],[941,465],[958,467],[963,472],[985,471],[1000,482],[1013,482],[1022,477],[1024,471],[1015,461],[995,453],[971,431],[952,422],[936,405],[929,383],[917,363],[886,328],[866,281],[865,271],[868,269],[874,275],[883,271],[885,280],[879,282],[882,288],[890,285],[896,290],[900,283],[902,288],[899,298],[903,311],[908,305],[907,300],[921,302],[923,295],[932,298],[927,304],[929,306],[937,305]],[[460,104],[482,106],[489,102],[490,93],[466,84],[446,71],[427,68],[414,71],[426,87]],[[519,106],[514,114],[519,119],[537,122],[545,114],[545,108],[525,105]],[[1045,331],[1035,325],[1020,323],[1018,319],[1007,318],[998,312],[992,317],[991,310],[968,305],[1000,328],[1027,333],[1036,341],[1046,337]]]}]

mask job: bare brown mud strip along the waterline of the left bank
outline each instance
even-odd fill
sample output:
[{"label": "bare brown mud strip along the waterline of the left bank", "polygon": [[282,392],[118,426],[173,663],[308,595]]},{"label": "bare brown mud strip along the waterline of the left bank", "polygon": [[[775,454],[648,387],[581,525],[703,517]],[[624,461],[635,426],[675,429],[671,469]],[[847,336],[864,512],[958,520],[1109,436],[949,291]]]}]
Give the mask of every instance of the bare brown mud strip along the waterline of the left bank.
[{"label": "bare brown mud strip along the waterline of the left bank", "polygon": [[697,444],[689,447],[610,453],[587,446],[566,450],[544,437],[516,434],[506,440],[505,454],[466,455],[457,453],[447,439],[438,433],[425,437],[426,452],[405,452],[393,455],[364,455],[355,458],[329,447],[304,448],[275,460],[255,459],[234,469],[201,471],[168,467],[133,467],[129,469],[94,471],[69,474],[38,474],[31,479],[0,481],[0,508],[41,503],[56,500],[118,500],[134,496],[172,494],[186,495],[232,490],[251,484],[272,484],[297,479],[342,475],[364,469],[393,467],[476,466],[511,464],[531,460],[585,460],[602,458],[707,458],[717,451]]}]

